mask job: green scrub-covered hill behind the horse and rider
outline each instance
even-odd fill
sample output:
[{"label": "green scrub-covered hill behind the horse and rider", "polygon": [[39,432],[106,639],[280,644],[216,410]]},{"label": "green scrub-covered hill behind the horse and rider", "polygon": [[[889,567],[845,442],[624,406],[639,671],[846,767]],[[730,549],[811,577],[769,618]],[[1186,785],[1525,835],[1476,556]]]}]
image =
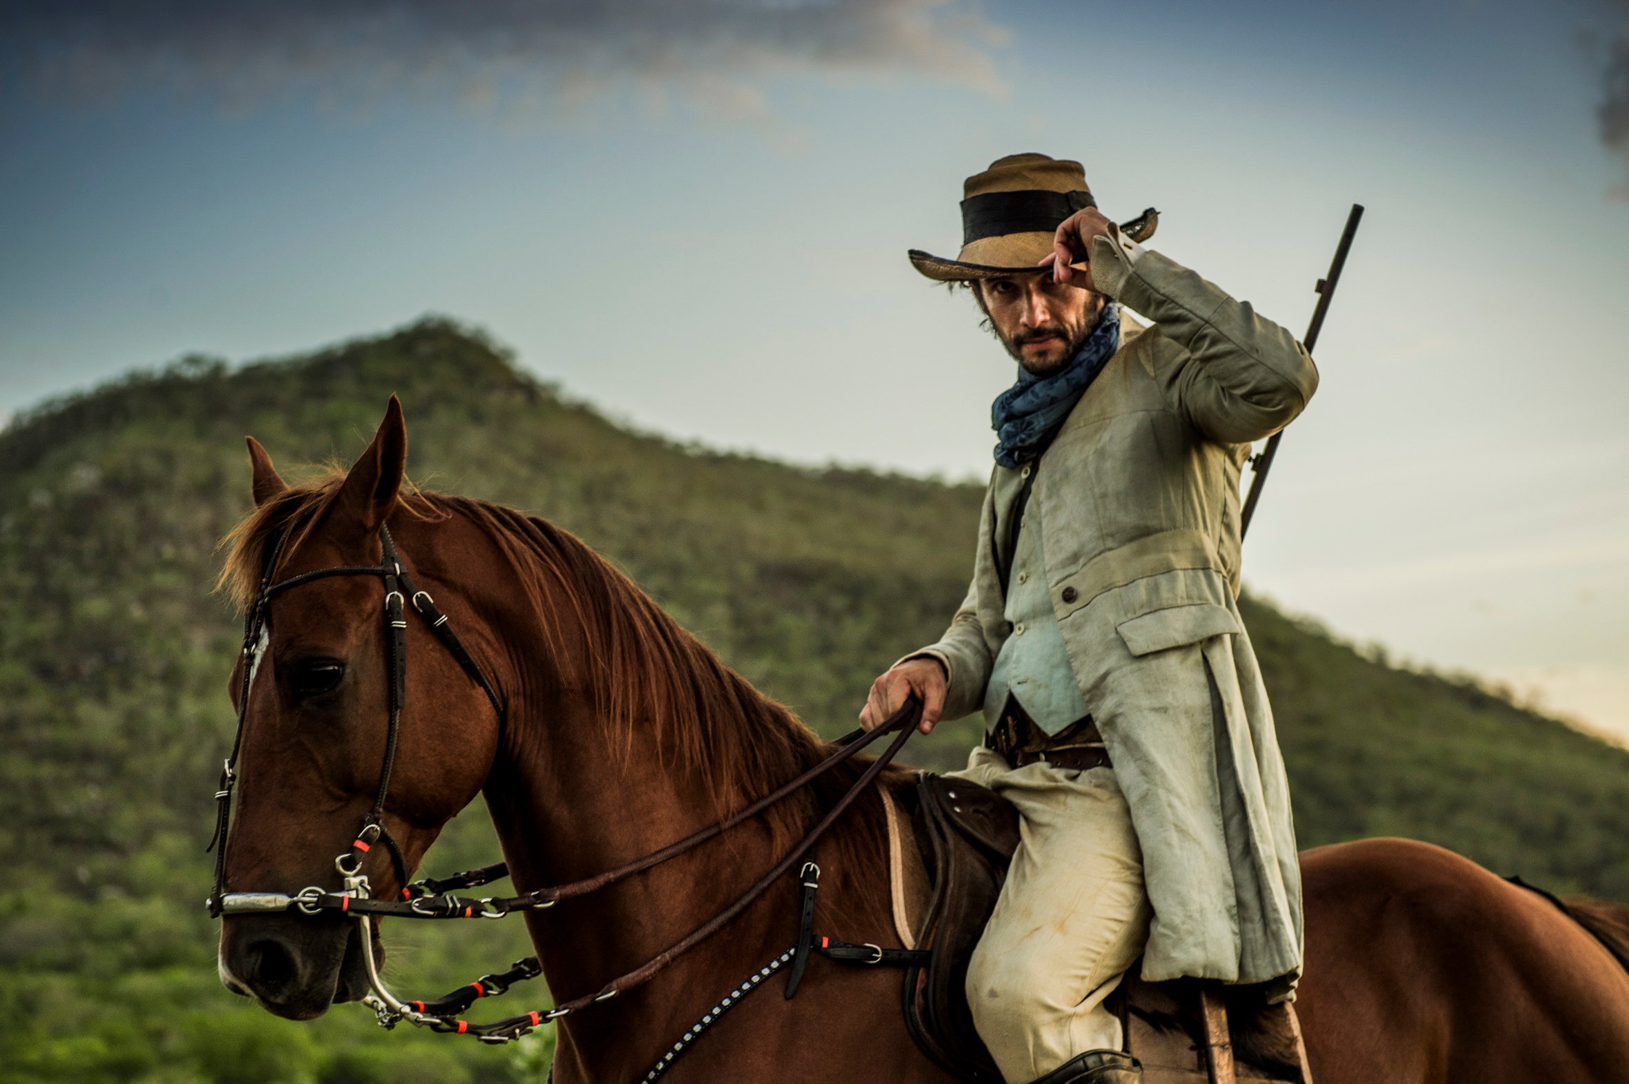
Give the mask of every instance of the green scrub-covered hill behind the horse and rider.
[{"label": "green scrub-covered hill behind the horse and rider", "polygon": [[[823,734],[932,640],[971,568],[977,487],[715,454],[613,425],[446,322],[230,369],[187,360],[0,433],[0,1079],[541,1079],[516,1055],[275,1021],[215,980],[200,900],[238,627],[209,591],[248,506],[243,435],[350,459],[384,399],[415,480],[542,514],[614,558]],[[287,472],[287,470],[285,470]],[[1471,684],[1390,669],[1246,599],[1305,846],[1409,835],[1629,900],[1629,752]],[[974,724],[915,760],[959,763]],[[497,853],[469,811],[430,856]],[[399,924],[397,924],[399,926]],[[388,933],[440,993],[525,954],[518,926]]]}]

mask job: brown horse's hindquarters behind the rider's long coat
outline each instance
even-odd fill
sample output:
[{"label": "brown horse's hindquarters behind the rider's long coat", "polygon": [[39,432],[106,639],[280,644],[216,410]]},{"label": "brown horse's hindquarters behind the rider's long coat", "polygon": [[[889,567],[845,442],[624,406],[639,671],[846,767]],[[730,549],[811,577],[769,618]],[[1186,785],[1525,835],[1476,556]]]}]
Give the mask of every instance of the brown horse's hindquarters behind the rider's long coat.
[{"label": "brown horse's hindquarters behind the rider's long coat", "polygon": [[1412,840],[1306,851],[1302,879],[1328,1084],[1629,1081],[1629,973],[1549,898]]}]

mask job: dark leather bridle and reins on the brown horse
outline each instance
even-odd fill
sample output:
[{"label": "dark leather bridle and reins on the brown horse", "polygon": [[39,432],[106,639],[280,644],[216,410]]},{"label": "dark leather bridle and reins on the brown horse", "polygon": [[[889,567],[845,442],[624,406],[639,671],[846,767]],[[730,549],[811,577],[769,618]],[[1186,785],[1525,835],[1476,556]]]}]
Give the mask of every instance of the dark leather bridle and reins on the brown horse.
[{"label": "dark leather bridle and reins on the brown horse", "polygon": [[[209,900],[205,900],[212,916],[220,918],[223,915],[266,915],[295,910],[301,915],[323,915],[324,911],[336,911],[339,915],[353,918],[360,923],[363,960],[367,964],[368,973],[368,996],[363,998],[363,1004],[371,1008],[384,1027],[394,1027],[399,1021],[407,1021],[411,1024],[428,1027],[437,1032],[450,1032],[459,1035],[474,1035],[476,1038],[489,1043],[505,1043],[528,1032],[538,1029],[544,1022],[555,1021],[570,1012],[585,1009],[595,1003],[609,1001],[617,994],[635,990],[658,973],[661,973],[670,964],[673,964],[679,955],[696,947],[712,934],[718,933],[725,924],[736,918],[743,910],[746,910],[754,900],[757,900],[764,892],[767,892],[775,881],[787,874],[793,864],[798,863],[814,843],[826,833],[832,824],[844,814],[860,798],[860,794],[876,780],[876,776],[888,767],[894,755],[904,747],[906,741],[915,731],[915,724],[920,719],[922,705],[917,700],[909,700],[899,711],[896,711],[883,724],[872,731],[852,731],[844,737],[837,739],[837,749],[828,755],[819,763],[805,770],[801,775],[780,785],[769,794],[759,798],[749,806],[730,814],[723,820],[692,832],[691,835],[670,843],[660,850],[655,850],[642,858],[635,858],[630,863],[624,863],[614,869],[585,877],[580,881],[572,881],[560,885],[552,885],[546,889],[536,889],[533,892],[523,892],[512,897],[485,897],[485,898],[466,898],[453,895],[458,889],[472,889],[500,877],[508,876],[508,866],[505,863],[495,863],[492,866],[482,866],[481,869],[472,869],[461,874],[453,874],[451,877],[433,881],[424,879],[409,884],[407,863],[397,846],[396,840],[391,837],[389,830],[384,827],[384,799],[389,793],[391,768],[396,760],[396,744],[401,729],[401,710],[406,698],[407,688],[407,617],[406,604],[411,601],[414,612],[417,612],[428,625],[435,636],[440,640],[441,646],[448,649],[453,659],[463,667],[463,671],[471,677],[471,680],[481,687],[487,700],[492,703],[494,711],[497,711],[498,724],[505,723],[507,713],[502,700],[498,698],[494,685],[487,680],[487,675],[481,671],[476,661],[471,658],[469,651],[453,633],[448,625],[446,614],[443,614],[435,605],[427,592],[419,591],[412,579],[401,566],[401,560],[396,553],[396,545],[391,540],[389,531],[380,527],[380,542],[383,549],[383,558],[380,565],[342,565],[336,568],[323,568],[310,573],[301,573],[298,576],[290,576],[288,579],[274,583],[272,576],[275,573],[277,563],[283,553],[283,547],[292,534],[285,531],[277,544],[270,547],[266,558],[261,578],[259,592],[244,615],[244,635],[243,635],[243,680],[238,692],[238,729],[233,739],[231,754],[222,767],[220,788],[215,791],[217,801],[217,819],[215,819],[215,837],[210,846],[217,846],[215,851],[215,885],[210,892]],[[269,636],[269,610],[270,602],[279,594],[298,588],[316,579],[326,579],[331,576],[378,576],[384,584],[384,622],[386,622],[386,645],[388,645],[388,682],[389,682],[389,729],[384,741],[384,762],[380,768],[380,786],[375,794],[373,809],[362,819],[362,828],[357,833],[355,841],[350,848],[334,858],[334,869],[342,877],[344,887],[340,892],[329,892],[319,885],[310,885],[300,892],[288,895],[283,892],[225,892],[225,876],[226,876],[226,840],[231,827],[231,798],[236,786],[236,765],[238,755],[243,745],[243,728],[248,718],[249,705],[249,687],[254,680],[254,674],[259,667],[262,651],[266,649],[266,641]],[[803,835],[798,843],[788,850],[762,877],[759,877],[746,892],[736,897],[728,907],[714,915],[710,920],[692,929],[689,934],[673,942],[650,960],[640,967],[619,975],[608,981],[596,993],[583,994],[572,1001],[557,1004],[554,1009],[547,1011],[531,1011],[520,1016],[505,1017],[494,1021],[492,1024],[471,1024],[468,1021],[458,1019],[458,1014],[466,1011],[477,998],[494,996],[505,993],[513,983],[528,978],[536,978],[542,973],[542,967],[536,957],[528,957],[518,960],[510,970],[482,975],[479,980],[468,983],[453,993],[433,999],[433,1001],[402,1001],[384,986],[378,973],[378,964],[373,959],[373,916],[393,915],[397,918],[503,918],[515,911],[526,910],[546,910],[559,903],[560,900],[570,900],[575,897],[588,895],[611,884],[616,884],[632,874],[642,872],[653,866],[658,866],[671,858],[684,855],[702,843],[723,835],[730,828],[759,815],[775,802],[784,801],[790,794],[808,786],[816,778],[831,771],[837,765],[844,763],[857,752],[875,742],[878,737],[894,732],[896,737],[888,747],[873,760],[865,771],[849,786],[847,791],[826,811],[826,814],[814,824],[808,833]],[[375,843],[383,841],[391,855],[391,863],[396,871],[397,884],[404,885],[401,889],[399,900],[375,898],[371,895],[371,887],[368,877],[362,874],[363,856],[373,848]],[[803,864],[803,887],[805,887],[805,915],[803,926],[813,918],[813,882],[819,877],[819,869],[813,863]],[[831,942],[831,939],[826,939]],[[844,957],[844,949],[862,947],[857,957]],[[896,962],[885,957],[885,952],[894,954],[894,951],[875,949],[875,946],[845,946],[845,942],[832,942],[831,947],[814,949],[821,951],[834,959],[844,959],[847,962],[860,964],[876,964],[876,962]],[[868,954],[875,951],[875,959]],[[660,1063],[660,1069],[665,1069],[671,1063],[673,1056],[679,1050],[692,1042],[694,1035],[712,1022],[717,1012],[728,1009],[733,999],[738,999],[749,990],[757,988],[757,985],[767,978],[771,973],[779,970],[784,964],[793,962],[793,978],[801,977],[801,965],[806,962],[810,952],[810,938],[806,933],[800,936],[798,946],[788,949],[785,954],[777,957],[772,965],[754,972],[741,986],[731,991],[720,1006],[704,1017],[692,1032],[686,1032],[684,1040],[674,1050],[671,1050],[665,1061]],[[914,955],[914,954],[912,954]],[[787,996],[792,996],[795,985],[788,986]],[[656,1071],[647,1079],[655,1079]]]}]

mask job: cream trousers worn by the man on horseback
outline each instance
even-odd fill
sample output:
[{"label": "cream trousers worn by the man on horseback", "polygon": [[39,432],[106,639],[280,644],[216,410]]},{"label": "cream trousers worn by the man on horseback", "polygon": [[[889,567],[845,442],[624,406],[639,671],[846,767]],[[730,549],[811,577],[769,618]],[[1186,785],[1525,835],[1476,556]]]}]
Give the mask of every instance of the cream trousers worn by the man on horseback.
[{"label": "cream trousers worn by the man on horseback", "polygon": [[1142,954],[1152,911],[1142,850],[1113,768],[1012,768],[974,749],[956,776],[1021,817],[1007,884],[968,967],[979,1038],[1008,1084],[1028,1084],[1087,1050],[1119,1050],[1103,1008]]}]

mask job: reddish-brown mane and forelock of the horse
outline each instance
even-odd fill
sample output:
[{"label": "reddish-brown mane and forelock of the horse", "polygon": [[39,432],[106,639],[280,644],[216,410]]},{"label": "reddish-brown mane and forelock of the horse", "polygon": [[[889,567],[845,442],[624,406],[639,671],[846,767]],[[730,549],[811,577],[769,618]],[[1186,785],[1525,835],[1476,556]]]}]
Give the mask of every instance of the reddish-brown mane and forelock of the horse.
[{"label": "reddish-brown mane and forelock of the horse", "polygon": [[[288,529],[292,553],[323,522],[344,472],[290,485],[246,516],[222,542],[226,560],[217,583],[239,607],[259,589],[267,547]],[[655,745],[665,765],[705,780],[720,815],[793,778],[828,749],[787,706],[757,692],[696,636],[674,622],[632,579],[569,531],[513,508],[404,487],[394,516],[459,518],[476,526],[513,566],[516,589],[539,614],[570,609],[588,636],[588,682],[608,739],[624,755],[639,741]],[[411,553],[407,555],[411,558]],[[557,628],[544,622],[549,635]],[[806,794],[764,815],[777,853],[854,781],[850,760],[826,773]],[[893,771],[893,770],[891,770]],[[898,780],[898,775],[891,776]],[[876,799],[865,796],[865,804]],[[875,806],[873,806],[875,809]],[[883,820],[847,819],[842,846],[883,853]],[[865,825],[865,827],[862,827]]]}]

